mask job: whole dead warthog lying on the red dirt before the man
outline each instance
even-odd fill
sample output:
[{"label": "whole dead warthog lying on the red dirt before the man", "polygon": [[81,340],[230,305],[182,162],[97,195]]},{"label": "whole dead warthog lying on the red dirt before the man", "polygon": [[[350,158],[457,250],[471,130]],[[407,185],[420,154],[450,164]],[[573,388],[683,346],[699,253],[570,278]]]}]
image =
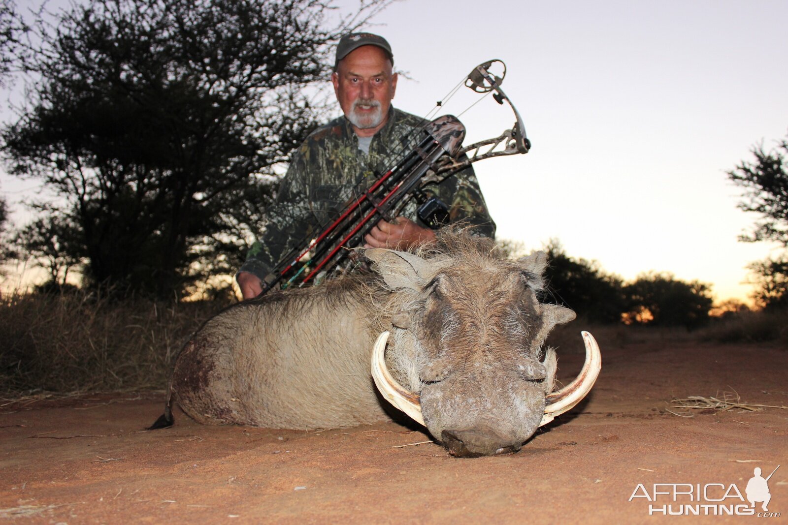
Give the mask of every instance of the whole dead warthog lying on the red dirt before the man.
[{"label": "whole dead warthog lying on the red dirt before the man", "polygon": [[516,452],[593,386],[599,349],[584,332],[583,371],[553,392],[556,353],[543,342],[574,312],[537,300],[544,253],[511,261],[490,239],[441,231],[418,253],[365,255],[373,275],[207,321],[177,357],[154,427],[172,424],[173,396],[199,423],[303,430],[385,419],[383,397],[455,456],[481,456]]}]

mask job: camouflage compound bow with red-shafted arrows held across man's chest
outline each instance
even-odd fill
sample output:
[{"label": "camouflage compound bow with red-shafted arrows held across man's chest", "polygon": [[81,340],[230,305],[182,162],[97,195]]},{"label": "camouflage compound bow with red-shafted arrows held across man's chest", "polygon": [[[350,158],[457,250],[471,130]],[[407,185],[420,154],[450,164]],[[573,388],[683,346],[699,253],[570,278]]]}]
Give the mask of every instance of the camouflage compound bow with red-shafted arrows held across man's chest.
[{"label": "camouflage compound bow with red-shafted arrows held across man's chest", "polygon": [[[502,68],[502,70],[501,70]],[[500,70],[499,74],[495,71]],[[515,125],[494,139],[474,142],[461,147],[465,128],[455,116],[439,116],[414,132],[420,136],[416,146],[396,161],[369,187],[361,188],[354,198],[344,203],[336,220],[317,238],[304,239],[291,250],[262,283],[262,294],[282,283],[281,287],[302,287],[321,275],[338,268],[351,253],[362,245],[363,238],[381,219],[392,221],[399,216],[409,198],[418,201],[419,217],[430,227],[438,227],[448,216],[448,207],[436,198],[429,198],[421,188],[440,181],[485,158],[528,153],[530,141],[526,128],[511,100],[500,88],[506,76],[506,65],[500,60],[478,65],[465,79],[466,87],[479,94],[492,92],[499,104],[507,102],[515,113]],[[438,104],[440,105],[440,103]],[[502,149],[500,148],[502,146]],[[484,151],[483,151],[484,149]]]}]

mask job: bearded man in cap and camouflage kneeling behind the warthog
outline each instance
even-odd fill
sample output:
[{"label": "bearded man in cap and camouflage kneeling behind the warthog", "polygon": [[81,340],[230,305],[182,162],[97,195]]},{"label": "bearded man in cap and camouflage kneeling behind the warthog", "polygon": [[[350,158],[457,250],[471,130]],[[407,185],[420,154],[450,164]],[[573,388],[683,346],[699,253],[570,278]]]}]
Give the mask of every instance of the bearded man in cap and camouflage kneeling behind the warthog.
[{"label": "bearded man in cap and camouflage kneeling behind the warthog", "polygon": [[[293,154],[277,194],[266,231],[252,245],[236,279],[244,299],[262,292],[273,267],[299,242],[318,235],[362,184],[388,170],[413,149],[424,121],[394,109],[397,75],[385,39],[370,33],[345,35],[336,46],[331,81],[344,116],[313,131]],[[424,188],[450,206],[451,222],[463,220],[479,235],[495,235],[473,168]],[[410,202],[394,222],[381,220],[365,237],[365,246],[405,250],[435,238],[418,220]]]}]

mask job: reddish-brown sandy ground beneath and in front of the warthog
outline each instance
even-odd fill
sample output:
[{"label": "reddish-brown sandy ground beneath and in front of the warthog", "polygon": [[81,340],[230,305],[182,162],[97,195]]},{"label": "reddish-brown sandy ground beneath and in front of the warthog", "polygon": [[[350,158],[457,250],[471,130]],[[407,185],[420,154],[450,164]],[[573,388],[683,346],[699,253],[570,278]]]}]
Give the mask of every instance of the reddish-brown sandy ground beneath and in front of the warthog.
[{"label": "reddish-brown sandy ground beneath and in front of the warthog", "polygon": [[[204,427],[177,412],[147,432],[162,394],[0,408],[0,518],[8,523],[647,523],[686,505],[724,512],[760,467],[788,516],[788,409],[667,412],[673,397],[788,406],[788,349],[598,338],[593,394],[516,454],[448,457],[398,423],[304,433]],[[559,350],[559,378],[582,364]],[[681,409],[673,409],[682,412]],[[410,445],[410,446],[408,446]],[[642,483],[643,490],[636,490]],[[652,497],[655,483],[691,483]],[[703,499],[704,486],[706,499]],[[731,490],[730,485],[735,484]],[[700,484],[698,487],[697,484]],[[723,488],[724,487],[724,488]],[[701,501],[697,501],[697,489]],[[671,491],[671,486],[658,486]],[[689,486],[678,490],[689,491]],[[636,496],[630,501],[630,497]],[[649,505],[656,516],[649,517]],[[762,512],[757,504],[756,512]],[[739,507],[744,510],[744,507]],[[735,509],[734,509],[735,510]],[[686,511],[689,512],[689,511]],[[742,523],[708,516],[685,523]],[[760,522],[763,523],[763,522]]]}]

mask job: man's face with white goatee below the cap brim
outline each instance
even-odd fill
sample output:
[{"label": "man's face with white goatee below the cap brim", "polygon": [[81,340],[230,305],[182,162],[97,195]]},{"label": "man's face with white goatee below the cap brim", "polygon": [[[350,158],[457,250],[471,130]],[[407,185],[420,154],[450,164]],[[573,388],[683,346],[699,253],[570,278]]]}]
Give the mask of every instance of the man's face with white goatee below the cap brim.
[{"label": "man's face with white goatee below the cap brim", "polygon": [[331,81],[336,100],[357,135],[370,137],[383,128],[396,78],[392,62],[377,46],[361,46],[340,61]]}]

